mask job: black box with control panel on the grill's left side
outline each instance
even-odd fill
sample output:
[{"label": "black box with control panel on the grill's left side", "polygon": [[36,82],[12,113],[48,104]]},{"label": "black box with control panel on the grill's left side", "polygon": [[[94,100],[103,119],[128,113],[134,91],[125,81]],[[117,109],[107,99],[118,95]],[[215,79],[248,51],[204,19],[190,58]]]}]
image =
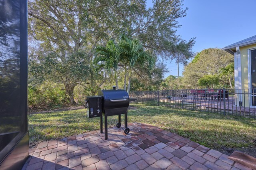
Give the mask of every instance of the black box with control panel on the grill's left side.
[{"label": "black box with control panel on the grill's left side", "polygon": [[85,104],[89,118],[100,117],[102,115],[102,96],[87,96]]}]

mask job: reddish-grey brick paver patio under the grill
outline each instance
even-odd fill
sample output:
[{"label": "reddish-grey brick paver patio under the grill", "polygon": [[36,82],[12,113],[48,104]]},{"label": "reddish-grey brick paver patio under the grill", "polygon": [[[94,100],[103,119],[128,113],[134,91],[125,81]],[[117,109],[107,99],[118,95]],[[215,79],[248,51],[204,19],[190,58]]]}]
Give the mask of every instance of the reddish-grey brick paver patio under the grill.
[{"label": "reddish-grey brick paver patio under the grill", "polygon": [[250,170],[228,156],[149,124],[129,123],[68,138],[43,142],[30,149],[23,170]]}]

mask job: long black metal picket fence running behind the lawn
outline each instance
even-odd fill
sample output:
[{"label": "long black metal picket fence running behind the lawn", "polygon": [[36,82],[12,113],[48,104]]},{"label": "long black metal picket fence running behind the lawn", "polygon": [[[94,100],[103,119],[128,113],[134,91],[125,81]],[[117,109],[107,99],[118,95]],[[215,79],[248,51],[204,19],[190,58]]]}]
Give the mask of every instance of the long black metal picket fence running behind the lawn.
[{"label": "long black metal picket fence running behind the lawn", "polygon": [[224,115],[255,117],[256,89],[181,89],[134,91],[136,103],[179,109],[208,111]]}]

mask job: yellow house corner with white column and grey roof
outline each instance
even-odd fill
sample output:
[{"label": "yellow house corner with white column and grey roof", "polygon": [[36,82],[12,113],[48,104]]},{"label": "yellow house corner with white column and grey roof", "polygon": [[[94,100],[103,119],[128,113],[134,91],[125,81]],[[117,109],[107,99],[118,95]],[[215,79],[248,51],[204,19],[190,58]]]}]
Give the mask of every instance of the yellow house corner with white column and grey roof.
[{"label": "yellow house corner with white column and grey roof", "polygon": [[256,106],[256,35],[223,48],[234,55],[235,105]]}]

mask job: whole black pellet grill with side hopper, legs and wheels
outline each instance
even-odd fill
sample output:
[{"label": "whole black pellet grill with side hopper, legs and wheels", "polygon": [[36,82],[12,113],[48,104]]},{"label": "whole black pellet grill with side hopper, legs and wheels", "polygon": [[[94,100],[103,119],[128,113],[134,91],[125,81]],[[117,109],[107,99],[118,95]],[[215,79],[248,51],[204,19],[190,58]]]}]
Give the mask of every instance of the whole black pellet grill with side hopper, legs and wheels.
[{"label": "whole black pellet grill with side hopper, legs and wheels", "polygon": [[100,133],[103,133],[103,115],[105,125],[105,139],[108,139],[108,116],[118,115],[116,127],[121,127],[121,114],[124,114],[124,133],[128,134],[127,112],[131,101],[125,90],[100,90],[99,96],[87,96],[86,107],[89,118],[100,117]]}]

